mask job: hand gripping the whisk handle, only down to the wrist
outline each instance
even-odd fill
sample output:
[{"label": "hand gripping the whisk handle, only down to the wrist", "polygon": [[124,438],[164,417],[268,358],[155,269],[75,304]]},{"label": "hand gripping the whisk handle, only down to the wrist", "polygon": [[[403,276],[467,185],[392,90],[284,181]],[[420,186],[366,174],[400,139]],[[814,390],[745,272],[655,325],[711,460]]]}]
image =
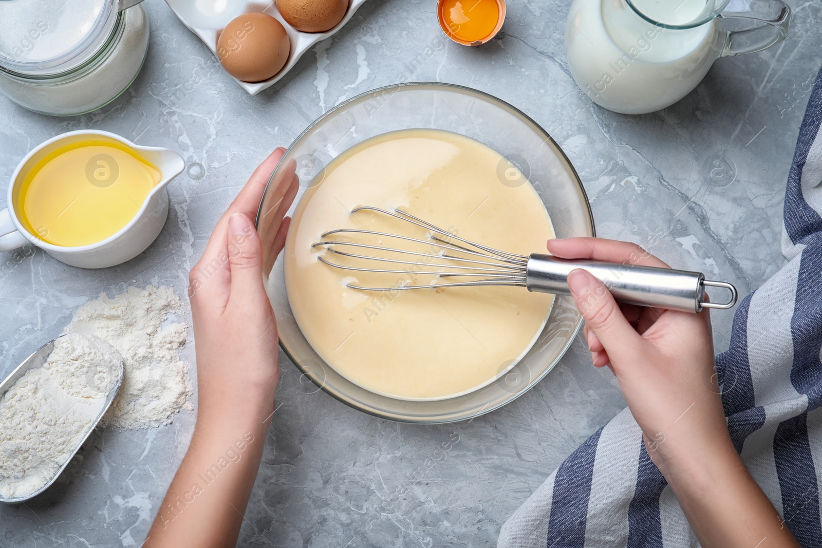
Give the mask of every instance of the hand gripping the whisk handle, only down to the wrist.
[{"label": "hand gripping the whisk handle, only down to the wrist", "polygon": [[[670,268],[629,242],[551,240],[548,251],[565,259]],[[568,284],[585,319],[593,365],[610,366],[617,376],[648,453],[663,474],[672,458],[733,451],[714,372],[709,311],[618,304],[582,269],[569,274]]]}]

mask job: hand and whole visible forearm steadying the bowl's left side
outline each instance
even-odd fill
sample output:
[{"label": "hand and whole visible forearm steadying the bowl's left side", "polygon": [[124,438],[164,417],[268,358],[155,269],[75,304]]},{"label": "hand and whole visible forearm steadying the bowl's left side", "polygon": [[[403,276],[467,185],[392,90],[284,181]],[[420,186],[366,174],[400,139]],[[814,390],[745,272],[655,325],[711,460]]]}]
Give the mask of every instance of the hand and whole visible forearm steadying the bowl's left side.
[{"label": "hand and whole visible forearm steadying the bowl's left side", "polygon": [[[145,548],[234,546],[260,467],[279,380],[277,324],[263,272],[283,250],[296,174],[271,182],[265,240],[252,219],[283,149],[266,158],[219,219],[189,276],[197,421]],[[267,262],[264,262],[267,261]]]}]

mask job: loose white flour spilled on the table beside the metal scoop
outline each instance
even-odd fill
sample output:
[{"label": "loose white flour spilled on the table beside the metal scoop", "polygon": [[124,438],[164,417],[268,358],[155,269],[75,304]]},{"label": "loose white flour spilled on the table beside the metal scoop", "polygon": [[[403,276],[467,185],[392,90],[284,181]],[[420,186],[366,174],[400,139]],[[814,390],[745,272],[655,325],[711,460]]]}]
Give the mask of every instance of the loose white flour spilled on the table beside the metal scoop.
[{"label": "loose white flour spilled on the table beside the metal scoop", "polygon": [[180,409],[192,409],[192,381],[180,360],[187,326],[172,288],[128,288],[105,294],[74,313],[67,333],[97,335],[122,354],[122,387],[100,424],[136,429],[166,425]]}]

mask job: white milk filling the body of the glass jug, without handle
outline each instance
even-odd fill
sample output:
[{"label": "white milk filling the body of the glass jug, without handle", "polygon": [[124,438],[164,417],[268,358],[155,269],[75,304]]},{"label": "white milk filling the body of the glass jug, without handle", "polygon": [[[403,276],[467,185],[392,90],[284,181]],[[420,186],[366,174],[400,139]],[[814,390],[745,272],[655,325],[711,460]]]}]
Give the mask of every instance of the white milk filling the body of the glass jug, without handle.
[{"label": "white milk filling the body of the glass jug, without handle", "polygon": [[[681,3],[679,3],[681,1]],[[634,0],[655,21],[698,20],[704,0]],[[625,0],[575,0],[566,26],[571,75],[595,103],[617,113],[650,113],[690,93],[719,57],[716,20],[678,30],[638,16]]]}]

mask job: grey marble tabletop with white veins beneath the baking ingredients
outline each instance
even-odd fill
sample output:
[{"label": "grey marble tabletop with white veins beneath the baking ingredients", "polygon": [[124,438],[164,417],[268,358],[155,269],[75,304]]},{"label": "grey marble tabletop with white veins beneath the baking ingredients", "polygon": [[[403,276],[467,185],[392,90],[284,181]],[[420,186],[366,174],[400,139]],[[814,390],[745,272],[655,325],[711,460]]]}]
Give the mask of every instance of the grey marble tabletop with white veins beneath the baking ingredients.
[{"label": "grey marble tabletop with white veins beneath the baking ingredients", "polygon": [[[282,81],[250,97],[164,2],[146,0],[149,55],[116,102],[61,119],[0,98],[0,187],[4,200],[16,163],[48,137],[113,131],[186,159],[187,173],[169,190],[168,223],[148,251],[111,269],[74,269],[41,252],[0,254],[0,375],[100,292],[154,283],[185,297],[188,270],[252,168],[328,108],[399,81],[468,85],[523,109],[575,164],[600,235],[639,242],[748,292],[783,264],[784,182],[822,62],[819,0],[791,3],[783,44],[721,59],[679,104],[626,117],[590,104],[570,78],[570,2],[510,2],[500,35],[465,48],[446,41],[433,0],[371,0]],[[732,314],[713,318],[724,350]],[[183,357],[192,377],[193,356],[190,340]],[[281,358],[279,408],[241,546],[494,546],[506,517],[624,406],[611,373],[590,365],[582,338],[529,394],[445,426],[384,421],[321,391],[306,394]],[[193,421],[182,412],[159,429],[95,431],[58,486],[0,507],[0,547],[140,546]],[[449,440],[458,441],[443,449]]]}]

